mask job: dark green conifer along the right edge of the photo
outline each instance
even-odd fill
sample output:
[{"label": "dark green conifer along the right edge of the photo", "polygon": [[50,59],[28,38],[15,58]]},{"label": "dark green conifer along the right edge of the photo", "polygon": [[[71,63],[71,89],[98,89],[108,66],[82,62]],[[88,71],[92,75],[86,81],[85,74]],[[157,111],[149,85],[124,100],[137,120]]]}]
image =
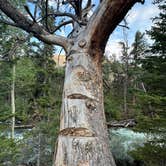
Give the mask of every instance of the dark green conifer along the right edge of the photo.
[{"label": "dark green conifer along the right edge of the photo", "polygon": [[166,5],[165,0],[156,1],[160,9],[148,34],[154,43],[150,52],[141,60],[146,92],[139,94],[142,112],[137,129],[148,133],[150,139],[134,152],[147,166],[166,164]]}]

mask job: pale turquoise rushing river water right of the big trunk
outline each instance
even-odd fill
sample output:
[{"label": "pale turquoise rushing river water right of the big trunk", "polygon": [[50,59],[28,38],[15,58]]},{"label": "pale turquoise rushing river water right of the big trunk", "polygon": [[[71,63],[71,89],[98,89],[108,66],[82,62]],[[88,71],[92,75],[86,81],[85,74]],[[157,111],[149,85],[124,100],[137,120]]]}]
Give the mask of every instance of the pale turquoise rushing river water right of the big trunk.
[{"label": "pale turquoise rushing river water right of the big trunk", "polygon": [[127,128],[110,129],[109,136],[111,151],[116,160],[126,160],[129,163],[134,161],[129,152],[137,146],[143,146],[146,141],[144,133],[134,132]]}]

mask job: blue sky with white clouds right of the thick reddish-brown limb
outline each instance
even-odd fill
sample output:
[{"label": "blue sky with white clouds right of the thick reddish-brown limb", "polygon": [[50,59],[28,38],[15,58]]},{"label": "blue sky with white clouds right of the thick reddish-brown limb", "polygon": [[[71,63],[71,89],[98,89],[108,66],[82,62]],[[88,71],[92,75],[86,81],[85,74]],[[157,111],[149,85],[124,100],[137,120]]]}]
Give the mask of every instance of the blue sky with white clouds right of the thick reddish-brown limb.
[{"label": "blue sky with white clouds right of the thick reddish-brown limb", "polygon": [[[143,33],[151,28],[151,26],[153,25],[151,18],[158,15],[158,13],[159,9],[156,5],[152,4],[152,0],[146,0],[144,5],[137,3],[128,12],[127,23],[130,29],[126,29],[126,32],[129,46],[133,43],[135,33],[138,30]],[[121,24],[124,23],[122,22]],[[147,35],[145,35],[145,38],[149,43],[152,42]],[[123,28],[117,27],[110,35],[105,49],[105,54],[107,56],[116,54],[116,58],[119,59],[119,57],[121,56],[121,46],[119,45],[120,41],[124,41]]]}]

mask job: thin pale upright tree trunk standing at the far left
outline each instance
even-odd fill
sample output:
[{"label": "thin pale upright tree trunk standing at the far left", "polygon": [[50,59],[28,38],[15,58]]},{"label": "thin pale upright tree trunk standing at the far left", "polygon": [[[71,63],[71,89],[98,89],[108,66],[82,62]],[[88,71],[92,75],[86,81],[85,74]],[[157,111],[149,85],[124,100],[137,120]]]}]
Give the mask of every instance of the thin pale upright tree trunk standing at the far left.
[{"label": "thin pale upright tree trunk standing at the far left", "polygon": [[[12,59],[14,60],[14,55],[12,55]],[[14,127],[15,127],[15,75],[16,75],[16,65],[13,63],[12,65],[12,84],[11,84],[11,109],[12,109],[12,133],[11,137],[14,139]]]}]

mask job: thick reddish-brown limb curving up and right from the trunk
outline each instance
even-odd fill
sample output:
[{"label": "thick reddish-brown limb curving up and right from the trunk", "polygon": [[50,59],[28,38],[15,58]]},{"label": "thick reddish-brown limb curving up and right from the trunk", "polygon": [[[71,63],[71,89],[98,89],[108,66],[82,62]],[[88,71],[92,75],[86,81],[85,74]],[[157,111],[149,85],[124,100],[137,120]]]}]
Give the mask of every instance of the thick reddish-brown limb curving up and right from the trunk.
[{"label": "thick reddish-brown limb curving up and right from the trunk", "polygon": [[91,48],[104,51],[109,35],[136,2],[138,0],[105,0],[100,3],[87,27]]}]

